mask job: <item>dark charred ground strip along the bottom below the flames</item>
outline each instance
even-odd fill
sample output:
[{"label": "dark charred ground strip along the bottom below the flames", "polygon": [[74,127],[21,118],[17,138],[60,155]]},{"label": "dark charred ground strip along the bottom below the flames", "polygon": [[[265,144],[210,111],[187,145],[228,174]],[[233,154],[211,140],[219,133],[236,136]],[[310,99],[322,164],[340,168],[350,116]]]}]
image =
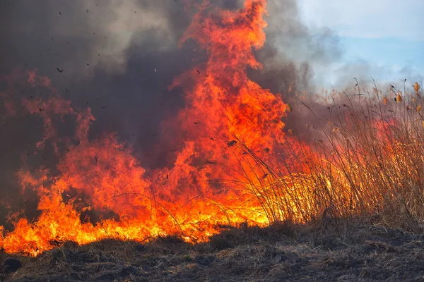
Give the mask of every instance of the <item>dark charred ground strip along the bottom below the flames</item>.
[{"label": "dark charred ground strip along the bottom below the flames", "polygon": [[229,228],[208,243],[65,243],[5,281],[424,281],[422,235],[376,223],[322,221]]}]

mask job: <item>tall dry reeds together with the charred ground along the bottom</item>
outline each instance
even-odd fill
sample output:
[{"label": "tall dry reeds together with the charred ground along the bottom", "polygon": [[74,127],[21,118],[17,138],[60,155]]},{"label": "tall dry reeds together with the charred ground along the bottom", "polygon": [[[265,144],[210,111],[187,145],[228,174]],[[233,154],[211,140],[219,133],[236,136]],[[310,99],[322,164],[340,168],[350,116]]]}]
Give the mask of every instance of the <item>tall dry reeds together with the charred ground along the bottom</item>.
[{"label": "tall dry reeds together with the charred ground along the bottom", "polygon": [[237,140],[257,161],[248,188],[271,226],[223,227],[197,245],[176,237],[65,243],[18,257],[23,267],[0,280],[422,281],[423,92],[418,83],[412,92],[356,90],[270,162]]}]

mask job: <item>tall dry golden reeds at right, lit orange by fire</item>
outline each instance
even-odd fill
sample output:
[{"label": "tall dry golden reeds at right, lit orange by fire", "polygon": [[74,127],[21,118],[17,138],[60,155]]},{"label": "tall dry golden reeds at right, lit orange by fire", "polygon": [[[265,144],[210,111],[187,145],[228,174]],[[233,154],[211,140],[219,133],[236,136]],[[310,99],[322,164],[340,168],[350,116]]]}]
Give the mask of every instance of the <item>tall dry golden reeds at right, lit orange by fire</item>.
[{"label": "tall dry golden reeds at right, lit orange by fire", "polygon": [[265,159],[238,140],[254,160],[245,187],[271,222],[379,214],[389,226],[424,230],[420,85],[382,92],[357,84],[343,97],[329,105],[327,120],[314,114],[317,126],[276,140],[278,149]]}]

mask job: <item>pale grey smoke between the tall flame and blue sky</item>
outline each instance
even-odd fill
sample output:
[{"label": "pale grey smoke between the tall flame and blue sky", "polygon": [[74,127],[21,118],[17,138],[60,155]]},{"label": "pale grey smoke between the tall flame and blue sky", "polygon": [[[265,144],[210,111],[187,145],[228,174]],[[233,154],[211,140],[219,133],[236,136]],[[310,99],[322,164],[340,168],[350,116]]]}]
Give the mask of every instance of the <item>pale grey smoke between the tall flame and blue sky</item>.
[{"label": "pale grey smoke between the tall flame and blue sky", "polygon": [[[283,96],[293,108],[285,118],[285,129],[302,135],[309,131],[307,124],[318,126],[314,114],[328,114],[326,97],[317,94],[320,92],[317,70],[322,71],[341,59],[343,51],[331,30],[312,29],[302,23],[298,1],[271,0],[268,11],[266,46],[257,54],[264,68],[252,71],[252,79]],[[302,102],[310,106],[314,114]]]}]

